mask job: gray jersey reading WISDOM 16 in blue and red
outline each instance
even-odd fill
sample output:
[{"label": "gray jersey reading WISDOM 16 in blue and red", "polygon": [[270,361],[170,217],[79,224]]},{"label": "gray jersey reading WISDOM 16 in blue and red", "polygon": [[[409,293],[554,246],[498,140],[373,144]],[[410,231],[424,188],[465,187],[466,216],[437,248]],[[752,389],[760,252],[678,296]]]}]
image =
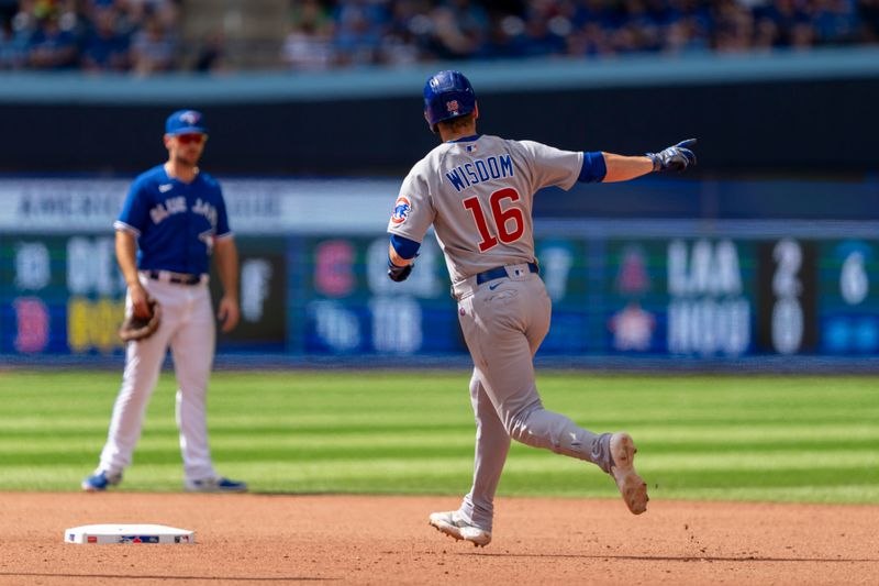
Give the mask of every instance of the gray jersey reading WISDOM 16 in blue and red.
[{"label": "gray jersey reading WISDOM 16 in blue and red", "polygon": [[431,224],[452,283],[532,263],[534,192],[570,189],[583,154],[499,136],[443,143],[403,180],[388,232],[421,242]]}]

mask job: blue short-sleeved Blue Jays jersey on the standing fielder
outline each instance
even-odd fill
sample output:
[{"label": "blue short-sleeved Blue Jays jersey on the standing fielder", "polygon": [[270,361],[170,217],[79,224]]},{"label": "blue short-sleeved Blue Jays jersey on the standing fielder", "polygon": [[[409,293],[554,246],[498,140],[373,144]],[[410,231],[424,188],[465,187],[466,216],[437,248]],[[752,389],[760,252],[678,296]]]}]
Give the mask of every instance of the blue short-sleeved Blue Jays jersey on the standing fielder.
[{"label": "blue short-sleeved Blue Jays jersey on the standing fielder", "polygon": [[209,272],[213,240],[232,236],[220,184],[204,172],[186,184],[165,165],[134,180],[113,226],[137,235],[140,269],[193,275]]}]

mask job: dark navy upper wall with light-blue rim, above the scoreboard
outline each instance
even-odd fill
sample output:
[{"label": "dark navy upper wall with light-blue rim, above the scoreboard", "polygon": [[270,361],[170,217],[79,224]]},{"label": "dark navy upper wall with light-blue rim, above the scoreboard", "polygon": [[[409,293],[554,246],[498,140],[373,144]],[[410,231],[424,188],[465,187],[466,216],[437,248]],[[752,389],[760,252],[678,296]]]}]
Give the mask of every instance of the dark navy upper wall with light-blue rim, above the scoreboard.
[{"label": "dark navy upper wall with light-blue rim, above the scoreboard", "polygon": [[472,78],[480,130],[571,150],[641,153],[698,136],[700,173],[876,173],[879,49],[645,56],[220,77],[0,78],[0,170],[134,173],[164,156],[170,109],[212,128],[224,173],[383,175],[436,144],[421,88],[439,67]]}]

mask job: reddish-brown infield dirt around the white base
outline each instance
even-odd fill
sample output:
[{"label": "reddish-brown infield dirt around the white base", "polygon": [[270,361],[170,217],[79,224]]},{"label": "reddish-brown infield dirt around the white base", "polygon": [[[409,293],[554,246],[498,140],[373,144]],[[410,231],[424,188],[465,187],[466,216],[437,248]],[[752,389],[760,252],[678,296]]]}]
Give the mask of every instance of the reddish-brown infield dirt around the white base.
[{"label": "reddish-brown infield dirt around the white base", "polygon": [[[877,584],[879,507],[500,498],[455,542],[449,497],[0,494],[0,583]],[[160,523],[196,545],[75,545],[66,528]]]}]

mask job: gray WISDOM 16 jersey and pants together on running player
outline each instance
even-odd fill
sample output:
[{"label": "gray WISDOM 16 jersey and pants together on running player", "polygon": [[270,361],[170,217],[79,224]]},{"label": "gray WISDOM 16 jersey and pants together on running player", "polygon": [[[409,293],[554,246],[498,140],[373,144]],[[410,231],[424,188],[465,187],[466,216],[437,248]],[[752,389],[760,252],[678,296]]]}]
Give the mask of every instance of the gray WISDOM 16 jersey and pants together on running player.
[{"label": "gray WISDOM 16 jersey and pants together on running player", "polygon": [[412,168],[388,225],[390,233],[421,242],[433,224],[445,253],[474,358],[470,399],[478,428],[474,484],[457,513],[485,531],[491,531],[511,439],[609,469],[599,435],[544,409],[532,365],[552,311],[543,280],[528,266],[535,262],[534,192],[569,189],[582,164],[582,153],[531,141],[474,136],[444,143]]}]

